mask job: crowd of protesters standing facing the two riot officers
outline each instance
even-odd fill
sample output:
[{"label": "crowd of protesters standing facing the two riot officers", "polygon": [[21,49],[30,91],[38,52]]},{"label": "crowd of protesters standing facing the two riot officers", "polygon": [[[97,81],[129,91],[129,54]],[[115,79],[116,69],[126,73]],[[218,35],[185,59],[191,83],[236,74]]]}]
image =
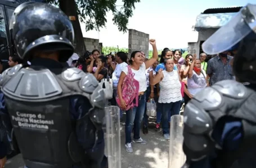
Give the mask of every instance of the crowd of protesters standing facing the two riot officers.
[{"label": "crowd of protesters standing facing the two riot officers", "polygon": [[[182,57],[182,51],[163,49],[160,55],[156,49],[154,40],[150,41],[153,48],[153,56],[142,50],[131,53],[131,59],[124,52],[104,55],[99,50],[87,52],[83,57],[73,54],[69,60],[69,66],[92,73],[101,82],[104,78],[113,81],[113,96],[109,99],[109,105],[118,105],[120,108],[120,121],[125,125],[125,148],[127,152],[133,152],[132,142],[146,144],[140,137],[142,132],[148,134],[149,116],[146,113],[146,102],[154,99],[156,108],[155,131],[162,132],[163,137],[170,139],[169,127],[172,115],[177,115],[185,107],[187,102],[206,86],[215,82],[233,79],[231,60],[227,52],[205,62],[206,54],[201,53],[199,58],[194,54]],[[129,68],[134,74],[134,80],[138,81],[138,101],[134,98],[134,107],[127,108],[127,101],[123,100],[125,76]],[[131,83],[134,87],[136,83]],[[106,89],[106,88],[105,88]],[[119,97],[120,102],[116,102]],[[126,114],[126,120],[123,118]],[[133,134],[133,141],[131,133]]]}]

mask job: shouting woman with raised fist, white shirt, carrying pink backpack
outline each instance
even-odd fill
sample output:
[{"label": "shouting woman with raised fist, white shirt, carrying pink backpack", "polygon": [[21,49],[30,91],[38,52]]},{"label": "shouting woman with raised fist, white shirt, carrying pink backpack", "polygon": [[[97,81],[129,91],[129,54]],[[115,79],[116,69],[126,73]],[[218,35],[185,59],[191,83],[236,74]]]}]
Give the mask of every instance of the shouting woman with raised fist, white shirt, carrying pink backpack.
[{"label": "shouting woman with raised fist, white shirt, carrying pink backpack", "polygon": [[[138,106],[133,107],[126,111],[126,122],[125,122],[125,148],[127,152],[132,153],[132,125],[134,123],[134,136],[133,142],[134,143],[141,143],[146,144],[147,142],[140,137],[140,127],[141,127],[141,120],[143,118],[145,106],[146,106],[146,89],[147,89],[147,82],[146,82],[146,75],[145,71],[147,68],[151,67],[152,64],[158,59],[158,50],[156,49],[155,40],[150,39],[150,44],[153,48],[153,57],[149,60],[143,62],[144,57],[140,51],[135,51],[131,54],[132,64],[130,65],[132,72],[134,73],[134,79],[139,82],[139,97],[138,97]],[[122,97],[122,85],[125,76],[128,73],[128,67],[125,67],[120,75],[119,82],[118,82],[118,96],[120,99],[120,105],[122,109],[126,109],[125,101]]]}]

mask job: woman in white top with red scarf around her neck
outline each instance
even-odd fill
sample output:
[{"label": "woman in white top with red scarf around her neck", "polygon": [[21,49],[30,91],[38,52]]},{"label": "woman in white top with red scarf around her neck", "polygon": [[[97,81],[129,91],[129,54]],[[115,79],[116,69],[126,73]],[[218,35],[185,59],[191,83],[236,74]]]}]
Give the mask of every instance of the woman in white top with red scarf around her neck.
[{"label": "woman in white top with red scarf around her neck", "polygon": [[191,66],[187,74],[187,90],[190,95],[185,95],[185,104],[190,100],[190,97],[197,94],[207,86],[206,74],[204,69],[201,69],[201,61],[196,59],[196,54],[193,55]]}]

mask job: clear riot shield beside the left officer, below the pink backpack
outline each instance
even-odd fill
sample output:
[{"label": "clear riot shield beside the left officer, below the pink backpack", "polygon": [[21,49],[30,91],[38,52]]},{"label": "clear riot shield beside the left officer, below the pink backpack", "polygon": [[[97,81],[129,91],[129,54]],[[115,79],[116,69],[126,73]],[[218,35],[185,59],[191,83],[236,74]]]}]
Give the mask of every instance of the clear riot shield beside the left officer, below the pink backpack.
[{"label": "clear riot shield beside the left officer, below the pink backpack", "polygon": [[121,167],[120,113],[118,106],[105,108],[107,161],[109,167]]}]

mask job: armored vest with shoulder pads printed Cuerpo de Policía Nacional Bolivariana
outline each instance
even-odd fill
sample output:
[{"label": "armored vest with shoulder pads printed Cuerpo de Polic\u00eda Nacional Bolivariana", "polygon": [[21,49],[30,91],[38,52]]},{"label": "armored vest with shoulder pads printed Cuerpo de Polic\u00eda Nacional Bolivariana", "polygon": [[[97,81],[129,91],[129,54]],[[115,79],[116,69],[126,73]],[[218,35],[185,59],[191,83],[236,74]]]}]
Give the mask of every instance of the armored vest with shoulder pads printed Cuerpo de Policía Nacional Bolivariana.
[{"label": "armored vest with shoulder pads printed Cuerpo de Polic\u00eda Nacional Bolivariana", "polygon": [[55,74],[19,64],[3,73],[0,85],[26,166],[72,167],[84,159],[75,133],[81,121],[70,119],[70,96],[90,102],[88,117],[101,129],[105,97],[92,74],[78,68]]}]

